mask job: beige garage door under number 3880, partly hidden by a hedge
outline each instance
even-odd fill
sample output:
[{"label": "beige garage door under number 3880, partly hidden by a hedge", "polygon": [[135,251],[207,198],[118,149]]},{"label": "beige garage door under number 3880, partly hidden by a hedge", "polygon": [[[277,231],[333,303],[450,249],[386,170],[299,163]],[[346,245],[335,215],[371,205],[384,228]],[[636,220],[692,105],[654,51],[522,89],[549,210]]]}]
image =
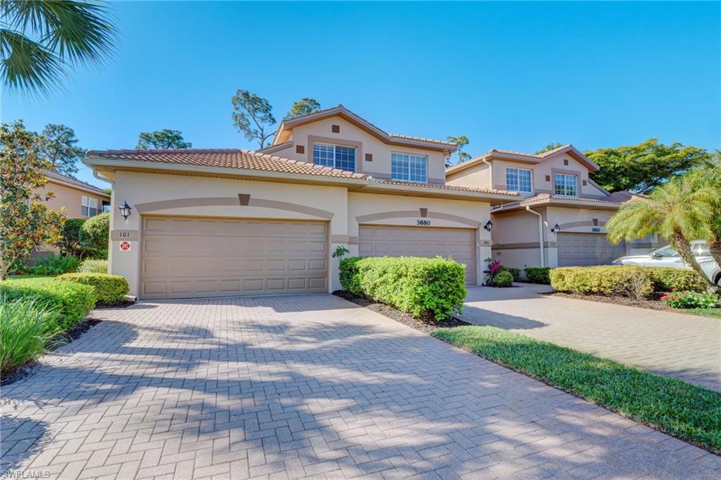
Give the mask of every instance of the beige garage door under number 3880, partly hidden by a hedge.
[{"label": "beige garage door under number 3880, partly hidden by a hedge", "polygon": [[466,284],[476,283],[476,232],[466,228],[361,225],[362,257],[452,257],[466,264]]}]

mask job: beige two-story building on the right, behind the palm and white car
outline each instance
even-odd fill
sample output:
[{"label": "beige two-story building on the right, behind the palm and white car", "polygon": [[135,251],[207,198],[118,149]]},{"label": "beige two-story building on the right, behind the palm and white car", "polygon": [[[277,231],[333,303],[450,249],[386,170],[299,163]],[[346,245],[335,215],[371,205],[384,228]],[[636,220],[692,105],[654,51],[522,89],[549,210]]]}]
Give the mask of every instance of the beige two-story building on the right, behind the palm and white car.
[{"label": "beige two-story building on the right, behind the palm and white car", "polygon": [[609,193],[591,180],[599,170],[565,145],[542,154],[492,149],[446,170],[446,184],[518,192],[492,210],[494,258],[507,266],[603,265],[646,253],[663,240],[611,245],[604,225],[632,193]]}]

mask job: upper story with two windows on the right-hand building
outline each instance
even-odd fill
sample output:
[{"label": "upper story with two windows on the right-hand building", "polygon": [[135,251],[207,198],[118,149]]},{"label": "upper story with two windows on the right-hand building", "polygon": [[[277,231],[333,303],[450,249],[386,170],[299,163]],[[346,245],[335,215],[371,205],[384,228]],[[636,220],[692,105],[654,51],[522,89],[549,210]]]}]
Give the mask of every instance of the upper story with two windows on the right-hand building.
[{"label": "upper story with two windows on the right-hand building", "polygon": [[446,171],[446,183],[518,192],[521,197],[539,193],[555,196],[605,198],[609,193],[588,176],[598,165],[572,145],[541,154],[492,149],[454,165]]}]

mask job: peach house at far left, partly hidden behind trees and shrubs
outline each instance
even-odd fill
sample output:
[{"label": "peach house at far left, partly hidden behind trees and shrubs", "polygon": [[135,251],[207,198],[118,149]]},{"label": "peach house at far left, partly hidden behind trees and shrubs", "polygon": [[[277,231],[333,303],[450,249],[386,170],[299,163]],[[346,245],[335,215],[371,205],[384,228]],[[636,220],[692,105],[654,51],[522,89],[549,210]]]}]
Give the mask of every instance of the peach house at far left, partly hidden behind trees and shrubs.
[{"label": "peach house at far left, partly hidden behind trees and shrubs", "polygon": [[[53,193],[53,198],[45,201],[45,204],[50,209],[60,210],[64,208],[65,215],[68,218],[90,218],[103,211],[110,211],[110,195],[102,191],[102,188],[97,188],[54,170],[46,171],[45,175],[48,178],[48,183],[38,193],[43,198],[45,193]],[[35,250],[32,256],[39,258],[50,252],[57,253],[58,248],[43,245]]]}]

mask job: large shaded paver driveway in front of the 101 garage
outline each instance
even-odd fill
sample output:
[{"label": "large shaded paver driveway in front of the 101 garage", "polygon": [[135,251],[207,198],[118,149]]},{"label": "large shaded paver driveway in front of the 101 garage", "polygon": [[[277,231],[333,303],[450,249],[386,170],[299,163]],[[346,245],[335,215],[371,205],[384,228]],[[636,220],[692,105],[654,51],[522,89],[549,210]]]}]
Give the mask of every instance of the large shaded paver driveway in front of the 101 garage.
[{"label": "large shaded paver driveway in front of the 101 garage", "polygon": [[4,388],[4,468],[119,480],[721,475],[715,455],[328,294],[97,315],[106,321]]}]

